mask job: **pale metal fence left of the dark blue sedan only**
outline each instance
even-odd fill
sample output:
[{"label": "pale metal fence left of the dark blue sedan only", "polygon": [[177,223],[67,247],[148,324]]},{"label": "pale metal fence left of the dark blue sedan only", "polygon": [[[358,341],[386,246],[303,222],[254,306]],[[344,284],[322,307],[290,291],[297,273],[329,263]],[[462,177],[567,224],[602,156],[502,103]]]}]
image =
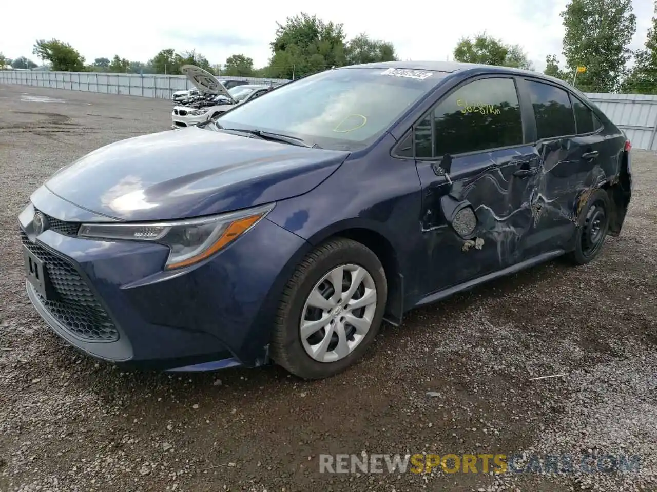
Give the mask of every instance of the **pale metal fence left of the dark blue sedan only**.
[{"label": "pale metal fence left of the dark blue sedan only", "polygon": [[[221,78],[221,77],[219,77]],[[257,79],[253,77],[229,77],[231,80],[245,80],[253,84],[287,82],[283,79]],[[15,72],[0,71],[0,83],[35,85],[70,91],[101,92],[102,94],[121,94],[124,96],[144,96],[158,99],[171,99],[173,92],[192,89],[193,85],[185,75],[152,75],[139,73],[98,73],[98,72]]]}]

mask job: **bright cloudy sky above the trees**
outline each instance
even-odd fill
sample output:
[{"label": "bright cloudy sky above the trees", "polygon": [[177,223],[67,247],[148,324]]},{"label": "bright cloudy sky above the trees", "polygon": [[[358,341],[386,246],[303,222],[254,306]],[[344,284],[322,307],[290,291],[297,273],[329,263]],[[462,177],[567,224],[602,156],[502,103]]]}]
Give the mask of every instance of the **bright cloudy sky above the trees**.
[{"label": "bright cloudy sky above the trees", "polygon": [[[559,12],[567,0],[457,0],[420,1],[405,9],[374,8],[369,2],[332,0],[326,4],[301,0],[252,1],[243,6],[231,2],[217,8],[202,1],[141,2],[34,0],[26,10],[20,1],[3,6],[0,51],[9,58],[32,55],[35,39],[53,37],[76,48],[87,62],[118,54],[131,61],[146,62],[158,51],[196,49],[211,64],[243,53],[256,67],[271,56],[276,22],[299,12],[317,14],[325,21],[342,22],[348,38],[365,32],[374,39],[394,43],[402,60],[445,60],[461,36],[479,31],[522,45],[539,70],[545,56],[561,58],[563,36]],[[315,5],[313,5],[315,4]],[[533,5],[532,5],[533,4]],[[633,48],[641,47],[653,15],[652,0],[634,0],[637,33]],[[376,10],[376,11],[375,11]],[[198,18],[194,18],[198,12]],[[24,22],[22,22],[24,20]]]}]

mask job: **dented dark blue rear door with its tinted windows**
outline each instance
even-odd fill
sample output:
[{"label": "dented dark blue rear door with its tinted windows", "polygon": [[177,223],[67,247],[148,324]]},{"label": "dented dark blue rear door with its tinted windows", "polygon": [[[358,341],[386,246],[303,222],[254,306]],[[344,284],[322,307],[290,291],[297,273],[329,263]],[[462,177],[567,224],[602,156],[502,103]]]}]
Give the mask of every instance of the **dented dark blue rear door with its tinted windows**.
[{"label": "dented dark blue rear door with its tinted windows", "polygon": [[568,245],[581,198],[604,182],[600,163],[608,162],[610,155],[602,123],[575,94],[543,79],[519,82],[534,115],[532,131],[541,165],[530,197],[532,232],[524,255],[531,257]]}]

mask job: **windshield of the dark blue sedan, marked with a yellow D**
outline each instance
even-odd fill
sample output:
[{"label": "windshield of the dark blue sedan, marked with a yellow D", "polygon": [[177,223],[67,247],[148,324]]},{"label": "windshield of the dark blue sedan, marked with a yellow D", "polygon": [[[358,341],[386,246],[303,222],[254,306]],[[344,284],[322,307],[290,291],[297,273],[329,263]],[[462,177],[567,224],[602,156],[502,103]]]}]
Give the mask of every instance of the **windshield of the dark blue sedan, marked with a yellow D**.
[{"label": "windshield of the dark blue sedan, marked with a yellow D", "polygon": [[358,150],[374,142],[445,75],[383,68],[328,70],[237,106],[221,117],[221,127],[296,136],[326,149]]}]

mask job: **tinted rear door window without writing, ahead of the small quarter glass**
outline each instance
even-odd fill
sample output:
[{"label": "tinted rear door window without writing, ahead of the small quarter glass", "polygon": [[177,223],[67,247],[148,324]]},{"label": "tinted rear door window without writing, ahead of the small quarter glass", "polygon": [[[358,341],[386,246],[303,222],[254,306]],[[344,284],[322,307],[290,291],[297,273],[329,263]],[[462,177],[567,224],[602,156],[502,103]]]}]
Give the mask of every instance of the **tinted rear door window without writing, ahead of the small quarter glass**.
[{"label": "tinted rear door window without writing, ahead of the small quarter glass", "polygon": [[527,81],[539,140],[576,134],[568,92],[550,84]]}]

